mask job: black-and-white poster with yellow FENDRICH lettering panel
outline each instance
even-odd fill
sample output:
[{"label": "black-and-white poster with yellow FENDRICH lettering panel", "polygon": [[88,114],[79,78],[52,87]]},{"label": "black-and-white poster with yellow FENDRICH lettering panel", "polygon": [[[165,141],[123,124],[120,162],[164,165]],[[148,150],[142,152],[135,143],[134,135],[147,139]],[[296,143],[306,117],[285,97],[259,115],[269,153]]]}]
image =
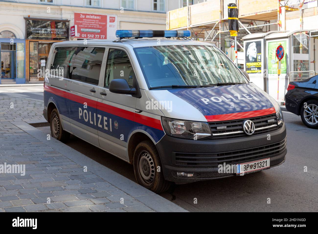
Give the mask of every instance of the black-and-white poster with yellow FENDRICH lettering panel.
[{"label": "black-and-white poster with yellow FENDRICH lettering panel", "polygon": [[245,44],[245,71],[262,72],[262,41],[249,41]]}]

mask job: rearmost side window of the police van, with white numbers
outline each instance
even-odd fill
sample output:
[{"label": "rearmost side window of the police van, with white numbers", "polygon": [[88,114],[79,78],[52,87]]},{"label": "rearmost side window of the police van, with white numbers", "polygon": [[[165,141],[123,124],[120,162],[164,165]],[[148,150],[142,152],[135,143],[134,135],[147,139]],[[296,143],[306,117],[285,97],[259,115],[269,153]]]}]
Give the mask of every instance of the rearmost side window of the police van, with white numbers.
[{"label": "rearmost side window of the police van, with white numbers", "polygon": [[56,47],[53,52],[53,62],[50,74],[63,78],[69,78],[71,60],[77,47]]}]

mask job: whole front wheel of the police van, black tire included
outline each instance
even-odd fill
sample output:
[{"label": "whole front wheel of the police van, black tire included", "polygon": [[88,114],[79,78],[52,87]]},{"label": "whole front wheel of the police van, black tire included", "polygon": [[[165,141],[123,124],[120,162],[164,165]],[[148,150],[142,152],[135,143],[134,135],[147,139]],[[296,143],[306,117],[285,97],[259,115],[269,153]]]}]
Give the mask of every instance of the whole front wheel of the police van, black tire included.
[{"label": "whole front wheel of the police van, black tire included", "polygon": [[[169,189],[171,182],[164,179],[158,151],[150,140],[142,141],[136,146],[133,164],[135,177],[140,185],[155,193]],[[160,172],[157,172],[158,166]]]}]

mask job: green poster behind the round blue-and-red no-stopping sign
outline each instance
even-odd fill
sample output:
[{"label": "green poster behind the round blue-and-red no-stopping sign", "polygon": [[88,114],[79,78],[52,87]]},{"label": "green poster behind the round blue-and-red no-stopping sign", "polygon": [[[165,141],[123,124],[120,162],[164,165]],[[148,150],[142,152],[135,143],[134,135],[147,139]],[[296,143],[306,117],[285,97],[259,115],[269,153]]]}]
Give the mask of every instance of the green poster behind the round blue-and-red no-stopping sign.
[{"label": "green poster behind the round blue-and-red no-stopping sign", "polygon": [[281,74],[286,74],[286,52],[287,52],[287,46],[286,46],[286,40],[283,41],[271,41],[268,42],[268,74],[277,74],[277,62],[278,59],[276,57],[276,49],[277,46],[282,45],[284,47],[284,58],[281,60]]}]

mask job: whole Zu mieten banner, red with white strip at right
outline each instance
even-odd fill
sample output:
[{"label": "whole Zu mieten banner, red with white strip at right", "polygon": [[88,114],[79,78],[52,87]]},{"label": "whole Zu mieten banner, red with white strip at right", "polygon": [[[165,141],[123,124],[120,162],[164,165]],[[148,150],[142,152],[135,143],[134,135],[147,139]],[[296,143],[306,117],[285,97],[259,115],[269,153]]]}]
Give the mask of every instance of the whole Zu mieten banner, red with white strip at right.
[{"label": "whole Zu mieten banner, red with white strip at right", "polygon": [[116,39],[117,16],[74,12],[75,38]]}]

